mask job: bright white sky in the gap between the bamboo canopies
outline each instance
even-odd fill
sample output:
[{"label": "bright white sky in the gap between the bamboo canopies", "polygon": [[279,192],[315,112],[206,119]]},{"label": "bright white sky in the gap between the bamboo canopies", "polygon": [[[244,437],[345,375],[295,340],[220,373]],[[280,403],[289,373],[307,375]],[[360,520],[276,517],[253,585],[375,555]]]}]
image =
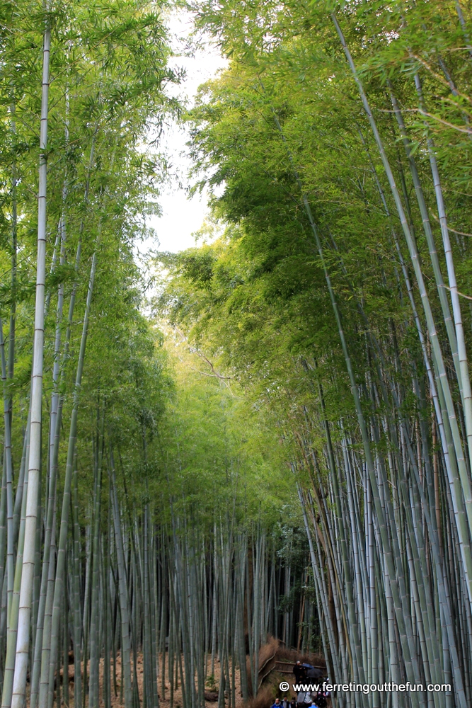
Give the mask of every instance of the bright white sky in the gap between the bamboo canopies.
[{"label": "bright white sky in the gap between the bamboo canopies", "polygon": [[[226,59],[221,57],[217,47],[208,42],[205,50],[195,52],[192,57],[184,56],[186,38],[192,30],[192,18],[183,11],[173,13],[168,26],[171,30],[171,42],[175,54],[171,65],[183,67],[186,78],[183,84],[173,87],[177,96],[186,96],[192,105],[198,86],[214,76],[218,69],[226,66]],[[180,183],[188,184],[188,170],[190,160],[185,155],[185,143],[188,141],[188,132],[177,125],[166,130],[161,142],[162,152],[166,152],[171,159],[172,173],[175,174],[171,184],[161,194],[159,202],[162,208],[161,217],[149,217],[149,226],[156,230],[159,246],[156,241],[146,241],[141,250],[154,249],[159,251],[183,251],[190,246],[195,246],[192,233],[200,229],[207,214],[207,198],[195,195],[191,200],[187,198],[185,189]],[[180,180],[179,180],[180,177]]]}]

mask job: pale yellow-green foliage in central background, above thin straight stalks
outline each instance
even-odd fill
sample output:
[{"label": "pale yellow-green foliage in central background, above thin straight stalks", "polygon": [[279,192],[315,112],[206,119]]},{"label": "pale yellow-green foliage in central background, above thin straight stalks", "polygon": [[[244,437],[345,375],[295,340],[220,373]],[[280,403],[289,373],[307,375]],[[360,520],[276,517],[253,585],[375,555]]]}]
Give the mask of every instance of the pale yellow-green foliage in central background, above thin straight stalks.
[{"label": "pale yellow-green foliage in central background, above thin straight stalks", "polygon": [[203,529],[231,518],[248,529],[257,521],[276,528],[283,503],[295,506],[280,433],[205,355],[171,333],[166,348],[175,392],[148,452],[161,519],[170,496],[173,513]]}]

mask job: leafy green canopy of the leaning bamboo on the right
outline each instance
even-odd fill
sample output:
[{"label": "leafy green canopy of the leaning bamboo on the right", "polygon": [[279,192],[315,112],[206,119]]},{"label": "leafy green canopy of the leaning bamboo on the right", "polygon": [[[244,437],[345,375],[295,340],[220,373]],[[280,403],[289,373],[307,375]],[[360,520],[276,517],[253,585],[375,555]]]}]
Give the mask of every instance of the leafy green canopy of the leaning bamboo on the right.
[{"label": "leafy green canopy of the leaning bamboo on the right", "polygon": [[[464,149],[464,142],[470,141],[444,123],[452,120],[448,112],[456,98],[440,75],[440,52],[448,47],[444,61],[457,81],[460,77],[464,82],[458,89],[461,96],[469,95],[471,63],[461,45],[456,8],[446,5],[428,3],[426,13],[423,7],[411,7],[406,22],[401,21],[403,4],[388,10],[383,4],[361,4],[340,12],[430,283],[427,244],[388,91],[391,86],[405,109],[432,228],[440,240],[428,133],[413,82],[413,72],[420,72],[425,103],[434,101],[434,110],[441,113],[428,118],[428,130],[437,146],[449,219],[457,222],[460,214],[460,230],[470,233],[470,222],[464,222],[470,196],[457,177],[459,165],[467,171],[469,148]],[[168,264],[173,278],[157,307],[192,341],[210,348],[225,370],[255,386],[271,405],[277,400],[282,406],[276,413],[279,420],[292,416],[297,401],[295,428],[303,428],[304,406],[317,406],[318,382],[323,382],[328,417],[337,421],[344,416],[354,434],[357,422],[323,265],[355,353],[357,379],[371,366],[374,337],[388,375],[402,387],[405,411],[412,411],[418,404],[409,381],[423,371],[423,363],[392,239],[392,229],[400,232],[401,227],[327,8],[323,3],[243,3],[239,10],[236,20],[231,2],[198,8],[198,21],[218,36],[231,62],[219,79],[202,86],[200,102],[187,117],[195,173],[200,184],[214,189],[215,217],[229,225],[220,240],[190,249]],[[453,24],[456,29],[449,34]],[[467,110],[456,118],[466,120]],[[377,177],[391,217],[382,205]],[[321,232],[323,261],[304,195]],[[468,241],[457,237],[453,248],[459,289],[467,293],[472,290]],[[445,270],[444,253],[439,258]],[[434,285],[429,297],[445,339]]]}]

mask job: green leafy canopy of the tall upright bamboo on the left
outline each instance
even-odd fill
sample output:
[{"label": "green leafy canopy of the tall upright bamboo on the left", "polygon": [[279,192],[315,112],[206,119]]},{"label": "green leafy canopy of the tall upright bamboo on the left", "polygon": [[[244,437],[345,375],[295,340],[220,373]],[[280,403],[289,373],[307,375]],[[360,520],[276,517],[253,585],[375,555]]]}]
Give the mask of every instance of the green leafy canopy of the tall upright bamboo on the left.
[{"label": "green leafy canopy of the tall upright bamboo on the left", "polygon": [[[90,445],[97,411],[105,408],[110,440],[126,447],[138,464],[142,430],[154,434],[171,379],[159,333],[140,313],[144,282],[134,264],[134,244],[149,236],[144,215],[153,209],[166,178],[151,143],[162,122],[180,110],[166,96],[179,76],[167,65],[165,4],[28,2],[0,7],[0,314],[8,346],[14,335],[13,469],[20,467],[28,416],[35,302],[38,163],[42,82],[42,35],[52,31],[47,143],[47,277],[44,411],[54,391],[59,357],[68,427],[82,321],[93,252],[97,273],[79,394],[78,465],[84,499],[93,489]],[[8,28],[8,30],[7,30]],[[65,236],[64,243],[61,242]],[[57,323],[59,290],[64,294]],[[67,339],[67,312],[76,304]],[[13,317],[14,330],[8,326]],[[62,348],[55,353],[59,326]],[[13,336],[12,335],[12,336]],[[8,354],[8,352],[7,352]],[[10,362],[9,362],[10,363]],[[47,425],[42,436],[49,462]],[[128,450],[129,448],[129,450]],[[136,452],[138,450],[138,452]],[[59,449],[59,491],[67,438]],[[134,457],[133,457],[134,455]],[[44,493],[44,489],[43,489]],[[86,505],[84,506],[86,510]]]}]

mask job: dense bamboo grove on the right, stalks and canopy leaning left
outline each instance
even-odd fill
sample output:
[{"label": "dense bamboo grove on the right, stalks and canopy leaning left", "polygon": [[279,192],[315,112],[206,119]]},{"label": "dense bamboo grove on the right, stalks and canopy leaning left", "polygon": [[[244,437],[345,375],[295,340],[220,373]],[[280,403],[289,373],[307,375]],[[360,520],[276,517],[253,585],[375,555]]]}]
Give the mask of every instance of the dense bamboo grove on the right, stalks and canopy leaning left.
[{"label": "dense bamboo grove on the right, stalks and canopy leaning left", "polygon": [[333,702],[465,708],[471,8],[192,8],[229,57],[187,116],[227,226],[158,258],[156,310],[271,411],[333,683],[423,687]]}]

